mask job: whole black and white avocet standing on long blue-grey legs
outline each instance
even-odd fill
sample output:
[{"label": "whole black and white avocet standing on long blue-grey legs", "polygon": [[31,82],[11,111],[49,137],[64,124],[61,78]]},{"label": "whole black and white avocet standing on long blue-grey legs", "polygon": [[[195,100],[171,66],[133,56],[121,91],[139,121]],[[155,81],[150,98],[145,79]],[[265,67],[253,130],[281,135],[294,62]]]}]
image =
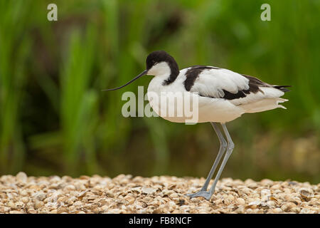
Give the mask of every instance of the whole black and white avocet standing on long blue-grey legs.
[{"label": "whole black and white avocet standing on long blue-grey legs", "polygon": [[[234,143],[225,123],[235,120],[244,113],[258,113],[274,108],[284,108],[279,103],[287,100],[280,97],[284,95],[284,92],[289,91],[287,87],[290,87],[270,85],[258,78],[214,66],[191,66],[179,71],[174,58],[165,51],[150,53],[146,58],[146,70],[124,86],[144,75],[154,76],[149,83],[148,93],[155,93],[159,96],[169,91],[196,94],[198,98],[198,120],[196,123],[210,122],[218,135],[220,149],[205,184],[199,192],[188,194],[190,197],[205,197],[206,199],[210,199],[215,192],[215,186],[221,172],[233,152]],[[117,90],[124,86],[109,90]],[[178,123],[186,120],[184,116],[177,118],[176,116],[161,115],[159,112],[161,102],[156,99],[149,98],[149,103],[156,113],[166,120]],[[222,125],[225,138],[218,123]],[[210,190],[207,190],[222,157],[223,162],[215,176],[213,185]]]}]

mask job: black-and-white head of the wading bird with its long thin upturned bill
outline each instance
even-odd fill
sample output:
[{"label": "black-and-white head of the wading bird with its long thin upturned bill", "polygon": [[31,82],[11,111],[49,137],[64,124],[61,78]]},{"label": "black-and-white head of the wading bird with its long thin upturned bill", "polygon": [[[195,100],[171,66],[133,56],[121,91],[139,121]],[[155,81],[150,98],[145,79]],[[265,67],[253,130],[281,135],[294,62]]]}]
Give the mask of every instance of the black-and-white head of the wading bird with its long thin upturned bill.
[{"label": "black-and-white head of the wading bird with its long thin upturned bill", "polygon": [[[133,81],[136,81],[138,78],[149,75],[149,76],[161,76],[161,75],[174,75],[178,76],[179,70],[178,70],[178,64],[174,60],[172,56],[169,55],[169,53],[166,53],[166,51],[154,51],[149,53],[149,55],[146,57],[146,70],[142,71],[142,73],[139,74],[139,76],[133,78],[131,81],[127,82],[123,86],[120,86],[118,88],[110,88],[107,90],[117,90],[119,88],[123,88],[124,86],[129,85]],[[102,91],[107,91],[102,90]]]}]

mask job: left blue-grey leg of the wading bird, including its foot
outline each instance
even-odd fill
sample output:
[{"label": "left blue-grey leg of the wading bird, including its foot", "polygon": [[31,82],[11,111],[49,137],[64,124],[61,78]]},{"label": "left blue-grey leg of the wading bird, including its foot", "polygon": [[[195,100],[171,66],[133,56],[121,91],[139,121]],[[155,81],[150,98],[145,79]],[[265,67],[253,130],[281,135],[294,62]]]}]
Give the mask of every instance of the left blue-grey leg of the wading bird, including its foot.
[{"label": "left blue-grey leg of the wading bird, including its foot", "polygon": [[209,185],[209,182],[211,180],[211,178],[213,177],[213,174],[221,160],[221,157],[223,156],[225,149],[227,148],[227,142],[225,141],[225,138],[223,138],[223,134],[221,133],[219,127],[218,127],[218,123],[213,123],[211,122],[211,125],[213,126],[213,129],[215,130],[215,133],[218,135],[218,139],[220,142],[220,148],[219,148],[219,152],[218,152],[218,156],[217,158],[215,158],[215,162],[213,163],[213,166],[211,167],[211,170],[208,174],[208,177],[206,179],[205,184],[203,185],[203,187],[201,188],[201,190],[199,192],[193,193],[193,194],[188,194],[189,197],[206,197],[208,195],[207,188]]}]

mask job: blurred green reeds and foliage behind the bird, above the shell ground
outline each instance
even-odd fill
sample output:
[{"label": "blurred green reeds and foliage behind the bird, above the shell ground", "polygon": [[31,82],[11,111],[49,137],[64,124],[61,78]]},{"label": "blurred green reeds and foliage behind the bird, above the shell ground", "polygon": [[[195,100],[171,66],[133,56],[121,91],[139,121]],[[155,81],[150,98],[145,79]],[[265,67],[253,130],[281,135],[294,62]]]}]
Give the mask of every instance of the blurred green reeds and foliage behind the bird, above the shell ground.
[{"label": "blurred green reeds and foliage behind the bird, above the shell ground", "polygon": [[[48,21],[47,6],[58,6]],[[260,6],[271,6],[261,21]],[[292,85],[287,110],[228,123],[222,177],[320,181],[320,1],[0,1],[0,175],[206,177],[210,123],[124,118],[122,93],[165,50],[179,67],[211,65]],[[146,105],[146,103],[145,103]]]}]

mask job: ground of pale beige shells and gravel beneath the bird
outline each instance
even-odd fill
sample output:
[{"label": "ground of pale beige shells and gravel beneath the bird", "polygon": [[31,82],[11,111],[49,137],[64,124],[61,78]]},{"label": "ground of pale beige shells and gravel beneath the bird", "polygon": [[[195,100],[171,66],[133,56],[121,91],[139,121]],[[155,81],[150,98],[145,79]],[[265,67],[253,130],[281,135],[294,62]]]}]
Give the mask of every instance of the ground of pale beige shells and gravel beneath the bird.
[{"label": "ground of pale beige shells and gravel beneath the bird", "polygon": [[[218,182],[210,201],[189,199],[204,178],[0,177],[0,213],[318,213],[320,184],[232,180]],[[211,181],[212,183],[212,181]]]}]

